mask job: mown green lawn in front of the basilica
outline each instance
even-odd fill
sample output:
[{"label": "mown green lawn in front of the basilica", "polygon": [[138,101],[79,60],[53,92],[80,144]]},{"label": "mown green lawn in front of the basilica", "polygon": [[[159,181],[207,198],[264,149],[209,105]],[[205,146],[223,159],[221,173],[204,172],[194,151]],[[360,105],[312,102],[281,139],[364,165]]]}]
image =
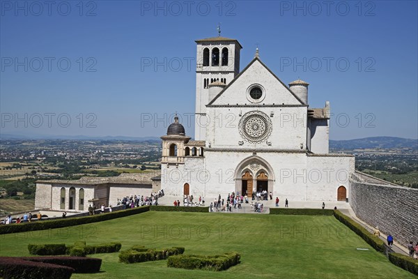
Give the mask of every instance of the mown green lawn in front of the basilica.
[{"label": "mown green lawn in front of the basilica", "polygon": [[[169,269],[166,261],[121,264],[118,253],[103,259],[102,272],[72,278],[417,278],[391,264],[333,216],[149,211],[38,232],[0,236],[1,256],[26,256],[28,243],[87,244],[120,241],[150,248],[185,247],[185,254],[237,251],[241,263],[228,271]],[[369,248],[357,250],[356,248]]]}]

